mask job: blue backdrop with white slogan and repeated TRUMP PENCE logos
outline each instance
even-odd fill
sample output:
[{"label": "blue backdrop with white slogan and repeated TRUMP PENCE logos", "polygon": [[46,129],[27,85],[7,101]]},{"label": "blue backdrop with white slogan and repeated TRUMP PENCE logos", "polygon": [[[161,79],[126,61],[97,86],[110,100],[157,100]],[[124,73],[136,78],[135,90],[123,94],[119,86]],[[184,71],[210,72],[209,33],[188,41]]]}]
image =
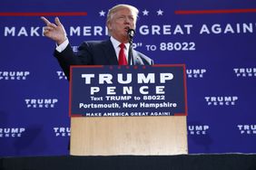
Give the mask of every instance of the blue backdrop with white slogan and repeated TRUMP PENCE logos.
[{"label": "blue backdrop with white slogan and repeated TRUMP PENCE logos", "polygon": [[75,52],[107,38],[107,10],[123,3],[140,9],[136,50],[186,64],[189,153],[255,153],[255,1],[4,0],[0,156],[68,155],[68,81],[40,16],[60,16]]}]

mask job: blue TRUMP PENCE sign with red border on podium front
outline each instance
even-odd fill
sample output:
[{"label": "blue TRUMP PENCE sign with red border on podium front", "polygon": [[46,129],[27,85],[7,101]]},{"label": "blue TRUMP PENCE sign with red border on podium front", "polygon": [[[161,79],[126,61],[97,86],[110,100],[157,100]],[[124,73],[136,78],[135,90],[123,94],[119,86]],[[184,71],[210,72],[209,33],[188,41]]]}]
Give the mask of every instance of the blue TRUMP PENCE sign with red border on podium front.
[{"label": "blue TRUMP PENCE sign with red border on podium front", "polygon": [[71,117],[187,115],[183,64],[72,66]]}]

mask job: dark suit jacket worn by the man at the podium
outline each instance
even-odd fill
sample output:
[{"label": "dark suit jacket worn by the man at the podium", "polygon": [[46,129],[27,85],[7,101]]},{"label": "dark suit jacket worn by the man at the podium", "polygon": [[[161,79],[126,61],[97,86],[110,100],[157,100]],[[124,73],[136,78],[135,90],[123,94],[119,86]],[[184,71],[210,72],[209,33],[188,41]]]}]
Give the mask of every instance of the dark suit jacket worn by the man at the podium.
[{"label": "dark suit jacket worn by the man at the podium", "polygon": [[[110,40],[83,42],[74,54],[69,44],[64,52],[54,52],[65,76],[69,80],[70,65],[118,65],[117,57]],[[134,65],[152,65],[153,60],[141,52],[133,50]]]}]

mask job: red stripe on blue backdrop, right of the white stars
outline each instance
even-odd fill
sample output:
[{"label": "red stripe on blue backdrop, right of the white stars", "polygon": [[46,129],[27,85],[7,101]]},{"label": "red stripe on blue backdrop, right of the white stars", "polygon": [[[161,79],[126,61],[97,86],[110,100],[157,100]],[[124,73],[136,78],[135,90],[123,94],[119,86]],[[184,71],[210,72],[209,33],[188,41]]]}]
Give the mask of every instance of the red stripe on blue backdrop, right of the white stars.
[{"label": "red stripe on blue backdrop, right of the white stars", "polygon": [[234,14],[234,13],[256,13],[256,9],[220,9],[220,10],[188,10],[175,11],[175,14]]}]

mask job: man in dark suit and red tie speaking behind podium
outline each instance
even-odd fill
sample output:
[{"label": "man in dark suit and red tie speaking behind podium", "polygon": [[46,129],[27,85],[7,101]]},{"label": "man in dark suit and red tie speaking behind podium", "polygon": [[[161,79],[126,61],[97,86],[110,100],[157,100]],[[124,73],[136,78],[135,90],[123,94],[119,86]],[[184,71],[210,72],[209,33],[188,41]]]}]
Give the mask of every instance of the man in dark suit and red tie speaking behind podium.
[{"label": "man in dark suit and red tie speaking behind podium", "polygon": [[[132,5],[115,5],[107,14],[106,25],[110,38],[105,41],[83,42],[74,54],[71,45],[65,35],[64,26],[58,17],[55,24],[41,17],[46,24],[44,36],[57,43],[54,56],[59,61],[65,75],[69,77],[70,65],[151,65],[153,60],[141,52],[131,49],[131,38],[128,30],[135,29],[139,11]],[[122,51],[120,44],[124,44],[124,62],[119,59]],[[132,57],[132,59],[128,59]],[[130,63],[129,63],[130,61]]]}]

